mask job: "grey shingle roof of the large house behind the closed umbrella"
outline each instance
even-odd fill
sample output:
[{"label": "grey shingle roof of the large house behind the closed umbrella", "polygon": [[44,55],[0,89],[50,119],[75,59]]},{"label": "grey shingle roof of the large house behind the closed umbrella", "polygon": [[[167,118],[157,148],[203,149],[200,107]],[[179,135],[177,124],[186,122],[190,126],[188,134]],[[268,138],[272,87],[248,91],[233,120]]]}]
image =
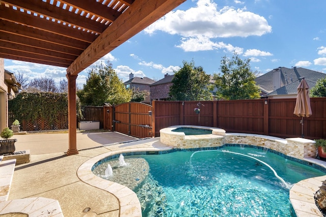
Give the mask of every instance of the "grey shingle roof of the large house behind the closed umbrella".
[{"label": "grey shingle roof of the large house behind the closed umbrella", "polygon": [[[280,69],[280,90],[276,91],[274,90],[274,83],[273,83],[273,73],[274,71],[277,71]],[[293,83],[300,80],[300,78],[305,77],[307,81],[313,82],[308,83],[310,88],[313,87],[318,79],[324,78],[326,76],[325,73],[316,72],[309,69],[304,69],[301,67],[293,67],[292,69],[286,68],[286,67],[279,67],[274,70],[271,70],[267,73],[265,73],[262,76],[259,76],[255,79],[256,84],[260,86],[261,89],[271,94],[271,92],[274,92],[274,94],[278,92],[296,92],[296,87],[298,84]],[[289,85],[293,83],[293,85]],[[295,86],[296,85],[296,86]],[[286,87],[284,87],[286,86]],[[283,88],[284,87],[284,88]]]}]

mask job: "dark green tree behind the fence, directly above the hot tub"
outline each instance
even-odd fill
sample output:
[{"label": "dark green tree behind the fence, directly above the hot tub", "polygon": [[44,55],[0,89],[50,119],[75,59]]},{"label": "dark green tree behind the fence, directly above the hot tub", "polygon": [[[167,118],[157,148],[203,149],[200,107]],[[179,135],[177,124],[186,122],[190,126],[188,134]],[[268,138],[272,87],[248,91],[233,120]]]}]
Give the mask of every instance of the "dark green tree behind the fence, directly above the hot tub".
[{"label": "dark green tree behind the fence, directly above the hot tub", "polygon": [[170,96],[172,100],[197,101],[211,100],[212,94],[208,91],[209,75],[206,75],[201,66],[196,67],[194,60],[190,63],[183,61],[183,67],[174,74]]}]

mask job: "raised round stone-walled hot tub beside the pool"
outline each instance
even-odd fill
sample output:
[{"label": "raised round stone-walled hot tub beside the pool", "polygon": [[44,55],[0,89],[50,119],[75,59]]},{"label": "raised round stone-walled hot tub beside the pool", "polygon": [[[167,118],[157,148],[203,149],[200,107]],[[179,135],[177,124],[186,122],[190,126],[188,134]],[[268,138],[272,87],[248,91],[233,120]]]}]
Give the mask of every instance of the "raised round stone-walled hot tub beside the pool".
[{"label": "raised round stone-walled hot tub beside the pool", "polygon": [[161,129],[160,142],[176,148],[216,147],[224,144],[225,130],[192,125]]}]

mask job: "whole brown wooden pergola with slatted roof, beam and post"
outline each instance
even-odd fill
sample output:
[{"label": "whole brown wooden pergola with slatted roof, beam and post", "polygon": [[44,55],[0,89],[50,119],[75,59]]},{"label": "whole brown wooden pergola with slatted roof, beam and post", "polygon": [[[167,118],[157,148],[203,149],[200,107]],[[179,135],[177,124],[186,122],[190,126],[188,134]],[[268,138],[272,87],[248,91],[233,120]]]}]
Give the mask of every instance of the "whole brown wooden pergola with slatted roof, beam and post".
[{"label": "whole brown wooden pergola with slatted roof, beam and post", "polygon": [[0,57],[67,68],[68,155],[78,153],[78,73],[185,1],[0,0]]}]

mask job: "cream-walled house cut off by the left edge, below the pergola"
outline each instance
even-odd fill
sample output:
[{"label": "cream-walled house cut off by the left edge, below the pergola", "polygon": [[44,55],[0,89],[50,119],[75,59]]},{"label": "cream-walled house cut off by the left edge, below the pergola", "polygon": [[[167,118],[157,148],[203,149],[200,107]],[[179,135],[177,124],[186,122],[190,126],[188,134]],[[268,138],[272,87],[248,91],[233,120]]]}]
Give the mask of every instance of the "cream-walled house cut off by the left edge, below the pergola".
[{"label": "cream-walled house cut off by the left edge, below the pergola", "polygon": [[15,97],[19,88],[15,75],[5,70],[4,59],[0,58],[0,131],[9,126],[8,99]]}]

